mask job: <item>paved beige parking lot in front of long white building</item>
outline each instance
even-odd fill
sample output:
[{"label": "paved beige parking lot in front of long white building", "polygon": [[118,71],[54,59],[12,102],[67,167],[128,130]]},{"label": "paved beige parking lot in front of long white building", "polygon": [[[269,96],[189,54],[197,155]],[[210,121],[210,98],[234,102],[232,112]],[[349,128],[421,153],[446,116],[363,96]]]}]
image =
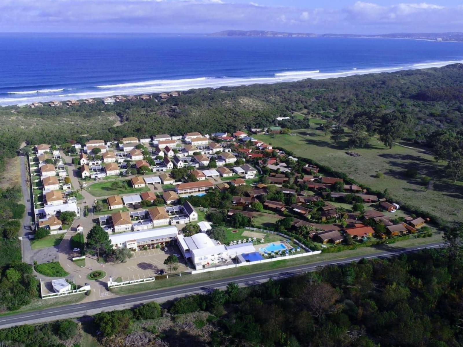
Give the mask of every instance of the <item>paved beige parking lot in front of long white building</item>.
[{"label": "paved beige parking lot in front of long white building", "polygon": [[149,249],[133,253],[133,257],[125,263],[106,265],[106,271],[114,280],[128,281],[133,279],[143,279],[153,277],[159,270],[164,270],[169,274],[169,267],[164,265],[164,260],[171,254],[177,254],[179,263],[176,265],[179,271],[188,269],[177,246],[167,246],[164,248]]}]

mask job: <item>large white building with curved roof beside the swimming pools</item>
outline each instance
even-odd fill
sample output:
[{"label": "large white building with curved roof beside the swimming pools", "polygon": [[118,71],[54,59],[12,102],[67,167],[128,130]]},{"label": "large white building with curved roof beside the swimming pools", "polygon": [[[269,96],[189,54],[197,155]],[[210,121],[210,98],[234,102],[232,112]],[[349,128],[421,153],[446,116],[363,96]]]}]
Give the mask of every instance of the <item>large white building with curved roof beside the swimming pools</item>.
[{"label": "large white building with curved roof beside the swimming pools", "polygon": [[188,237],[178,235],[177,241],[183,256],[190,259],[197,270],[210,265],[229,263],[240,254],[256,252],[250,242],[226,246],[203,233]]}]

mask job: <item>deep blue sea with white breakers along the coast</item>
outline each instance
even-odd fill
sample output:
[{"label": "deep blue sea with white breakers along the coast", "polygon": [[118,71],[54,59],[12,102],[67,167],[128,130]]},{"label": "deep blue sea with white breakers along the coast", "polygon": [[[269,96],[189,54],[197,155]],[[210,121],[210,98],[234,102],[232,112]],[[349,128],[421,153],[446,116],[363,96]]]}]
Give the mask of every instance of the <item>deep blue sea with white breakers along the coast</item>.
[{"label": "deep blue sea with white breakers along the coast", "polygon": [[440,67],[463,43],[366,38],[0,34],[0,105]]}]

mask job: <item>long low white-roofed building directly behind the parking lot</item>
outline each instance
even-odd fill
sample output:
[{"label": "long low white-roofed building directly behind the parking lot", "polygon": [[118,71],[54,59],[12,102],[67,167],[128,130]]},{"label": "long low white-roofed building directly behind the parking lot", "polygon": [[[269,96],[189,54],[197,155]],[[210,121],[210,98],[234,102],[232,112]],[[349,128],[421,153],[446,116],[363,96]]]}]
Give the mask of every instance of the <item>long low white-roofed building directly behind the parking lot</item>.
[{"label": "long low white-roofed building directly behind the parking lot", "polygon": [[109,235],[109,240],[111,241],[113,248],[129,248],[134,251],[139,251],[144,247],[155,248],[156,245],[169,245],[172,242],[175,242],[177,235],[177,228],[169,226]]}]

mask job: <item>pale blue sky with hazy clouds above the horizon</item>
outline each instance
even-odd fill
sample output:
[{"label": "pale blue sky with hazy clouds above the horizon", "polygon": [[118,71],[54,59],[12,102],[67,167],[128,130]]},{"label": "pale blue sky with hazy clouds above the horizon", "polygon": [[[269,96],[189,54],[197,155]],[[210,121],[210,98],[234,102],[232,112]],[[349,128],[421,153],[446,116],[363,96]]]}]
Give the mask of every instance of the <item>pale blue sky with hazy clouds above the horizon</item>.
[{"label": "pale blue sky with hazy clouds above the horizon", "polygon": [[[413,1],[413,0],[411,0]],[[463,2],[430,0],[1,0],[1,32],[385,34],[463,31]]]}]

